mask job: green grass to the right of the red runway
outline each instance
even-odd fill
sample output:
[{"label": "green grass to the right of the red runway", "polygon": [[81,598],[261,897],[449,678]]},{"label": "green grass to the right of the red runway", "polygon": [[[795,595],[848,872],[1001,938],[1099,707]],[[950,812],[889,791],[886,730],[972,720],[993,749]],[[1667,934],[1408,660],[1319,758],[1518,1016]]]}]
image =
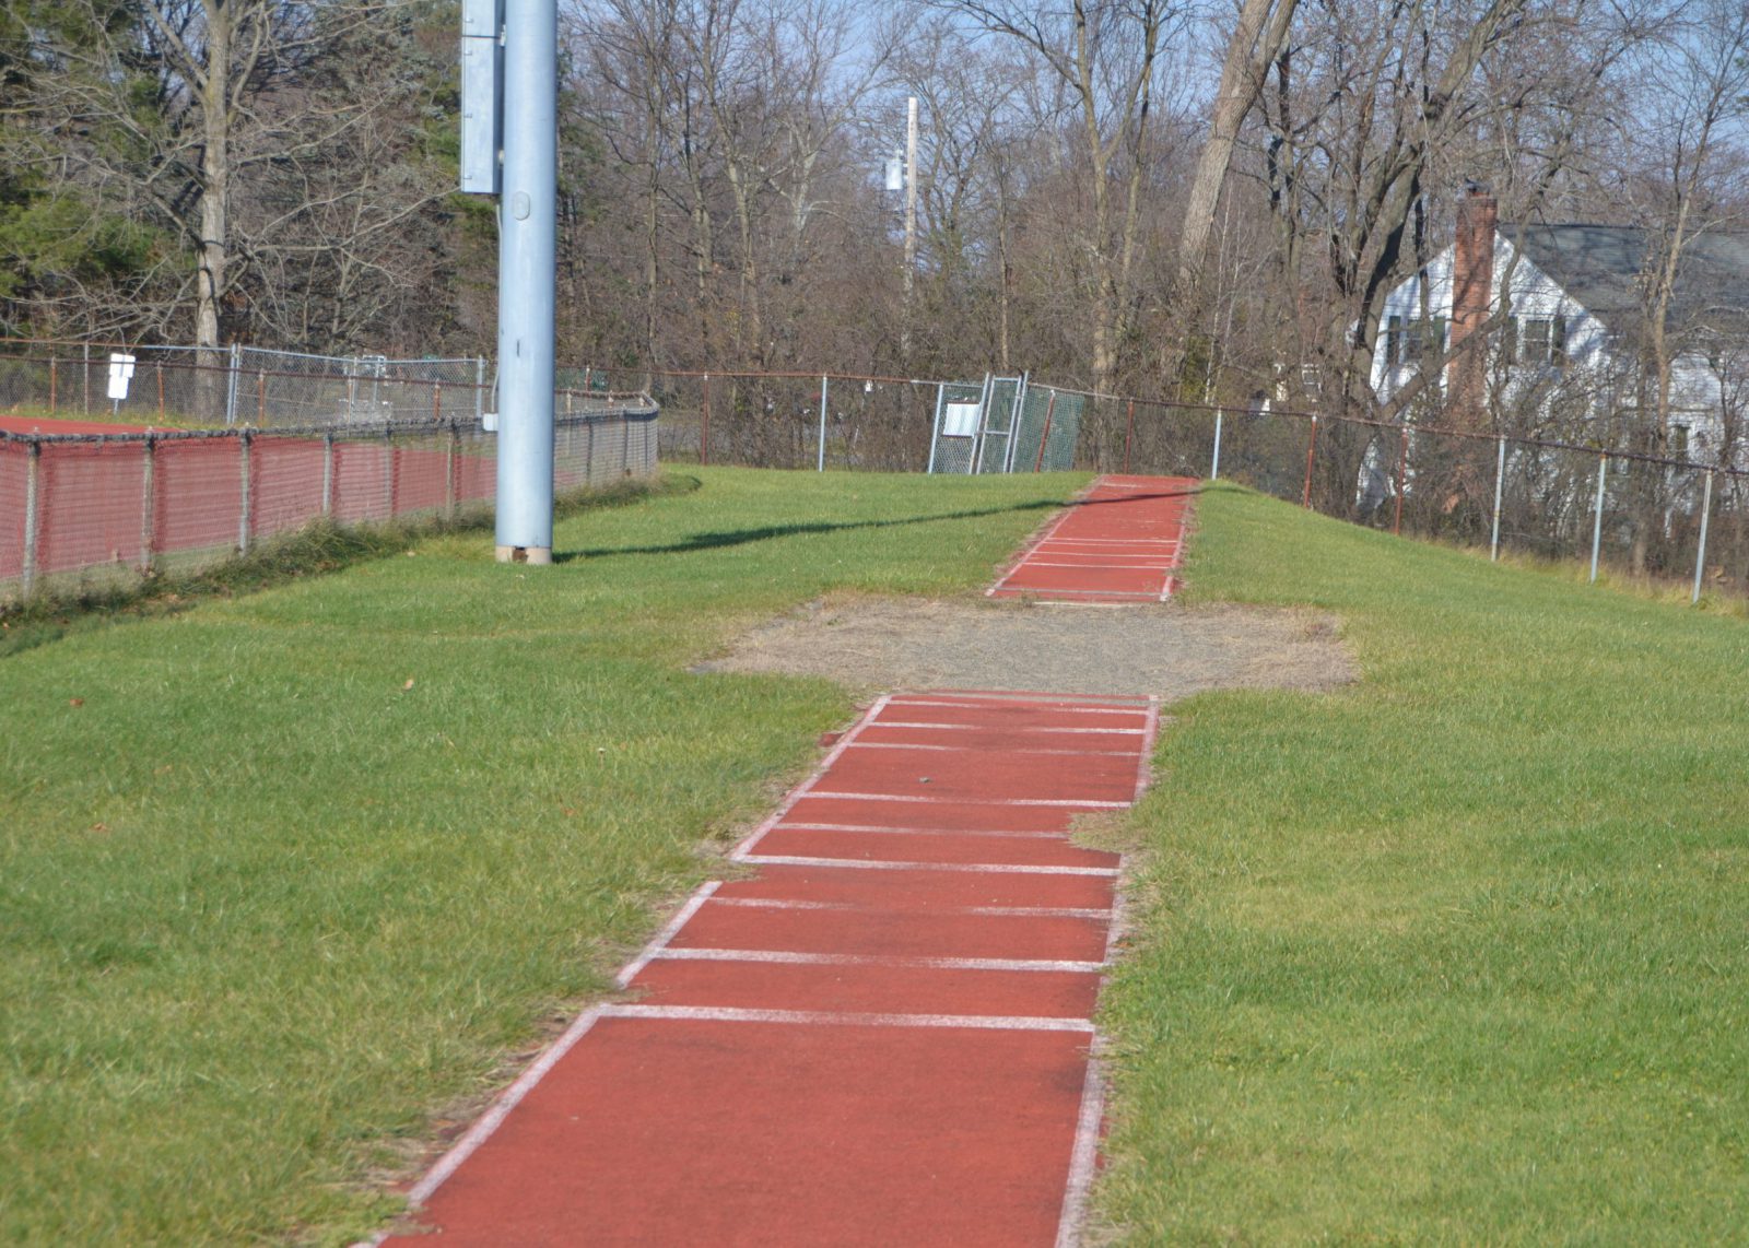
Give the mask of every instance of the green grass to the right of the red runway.
[{"label": "green grass to the right of the red runway", "polygon": [[1116,1037],[1125,1243],[1749,1241],[1749,622],[1212,488],[1196,600],[1362,680],[1174,710]]}]

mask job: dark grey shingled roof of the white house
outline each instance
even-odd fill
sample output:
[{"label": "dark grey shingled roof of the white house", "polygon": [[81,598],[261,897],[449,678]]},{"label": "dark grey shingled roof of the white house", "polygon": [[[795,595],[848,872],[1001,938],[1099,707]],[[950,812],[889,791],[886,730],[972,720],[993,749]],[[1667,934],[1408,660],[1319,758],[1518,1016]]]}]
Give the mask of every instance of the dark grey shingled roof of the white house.
[{"label": "dark grey shingled roof of the white house", "polygon": [[[1499,232],[1543,273],[1616,330],[1641,315],[1641,271],[1651,231],[1637,225],[1508,225]],[[1672,327],[1749,330],[1749,234],[1707,231],[1683,248]]]}]

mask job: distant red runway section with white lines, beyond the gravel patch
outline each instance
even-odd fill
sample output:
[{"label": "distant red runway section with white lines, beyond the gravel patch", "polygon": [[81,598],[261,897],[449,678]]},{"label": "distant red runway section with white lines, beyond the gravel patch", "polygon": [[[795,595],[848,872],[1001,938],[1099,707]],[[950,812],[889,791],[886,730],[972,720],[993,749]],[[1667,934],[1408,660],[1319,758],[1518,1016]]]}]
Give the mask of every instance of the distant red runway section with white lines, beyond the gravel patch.
[{"label": "distant red runway section with white lines, beyond the gravel patch", "polygon": [[1196,481],[1100,477],[1044,526],[992,598],[1154,603],[1177,587]]}]

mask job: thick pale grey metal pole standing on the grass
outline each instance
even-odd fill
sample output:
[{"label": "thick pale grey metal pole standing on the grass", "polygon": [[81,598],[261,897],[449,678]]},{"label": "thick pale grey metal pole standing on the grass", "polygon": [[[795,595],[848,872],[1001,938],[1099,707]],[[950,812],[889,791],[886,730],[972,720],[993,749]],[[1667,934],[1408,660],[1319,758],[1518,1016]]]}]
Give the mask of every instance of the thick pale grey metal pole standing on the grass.
[{"label": "thick pale grey metal pole standing on the grass", "polygon": [[498,563],[553,563],[558,3],[504,7],[498,205]]}]

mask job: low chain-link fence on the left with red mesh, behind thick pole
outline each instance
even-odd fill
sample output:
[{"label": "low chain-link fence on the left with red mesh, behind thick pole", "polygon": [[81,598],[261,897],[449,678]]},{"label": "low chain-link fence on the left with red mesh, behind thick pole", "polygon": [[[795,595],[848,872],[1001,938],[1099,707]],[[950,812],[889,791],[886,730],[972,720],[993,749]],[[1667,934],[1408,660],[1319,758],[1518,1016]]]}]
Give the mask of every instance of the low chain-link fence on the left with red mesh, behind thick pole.
[{"label": "low chain-link fence on the left with red mesh, behind thick pole", "polygon": [[[554,423],[558,491],[656,472],[654,404],[572,395],[568,406]],[[0,601],[187,572],[317,519],[456,517],[495,493],[497,437],[472,416],[129,433],[0,428]]]}]

